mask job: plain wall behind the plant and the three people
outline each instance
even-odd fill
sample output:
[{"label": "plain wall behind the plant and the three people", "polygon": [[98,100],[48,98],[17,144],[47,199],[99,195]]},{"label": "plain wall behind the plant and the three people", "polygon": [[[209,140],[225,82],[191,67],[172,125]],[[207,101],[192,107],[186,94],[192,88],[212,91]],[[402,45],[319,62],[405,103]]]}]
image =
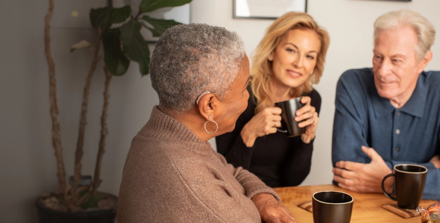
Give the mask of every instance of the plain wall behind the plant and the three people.
[{"label": "plain wall behind the plant and the three people", "polygon": [[[96,36],[83,19],[90,7],[105,0],[55,0],[51,48],[58,84],[61,137],[68,175],[73,171],[81,95],[91,53],[69,52],[72,44]],[[115,1],[123,2],[123,0]],[[386,11],[411,8],[421,12],[440,30],[440,1],[308,0],[309,13],[330,33],[326,69],[315,88],[323,97],[321,121],[315,141],[312,172],[304,184],[330,183],[330,149],[337,78],[350,68],[371,66],[372,24]],[[36,222],[33,205],[43,192],[57,189],[56,165],[51,145],[48,101],[48,66],[44,57],[44,16],[47,0],[0,1],[0,222]],[[80,20],[69,17],[80,12]],[[87,17],[87,16],[86,16]],[[64,19],[64,20],[63,20]],[[191,22],[204,22],[235,30],[243,37],[249,55],[271,20],[232,19],[232,0],[193,0]],[[440,69],[440,45],[433,47],[428,69]],[[103,104],[103,63],[92,79],[88,126],[84,144],[83,173],[92,174],[99,140],[99,117]],[[150,77],[141,77],[132,63],[123,77],[110,84],[109,135],[103,159],[101,190],[117,194],[122,168],[132,137],[147,122],[158,104]]]}]

